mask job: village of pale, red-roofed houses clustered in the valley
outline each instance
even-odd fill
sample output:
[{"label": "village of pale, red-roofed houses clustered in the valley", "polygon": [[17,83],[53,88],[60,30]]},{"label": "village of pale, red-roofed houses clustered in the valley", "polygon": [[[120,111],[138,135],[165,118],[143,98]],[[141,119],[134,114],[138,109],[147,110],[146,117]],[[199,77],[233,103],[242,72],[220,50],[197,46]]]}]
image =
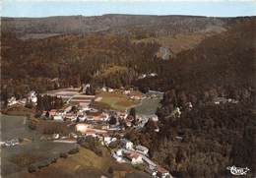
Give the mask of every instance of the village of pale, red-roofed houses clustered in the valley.
[{"label": "village of pale, red-roofed houses clustered in the valley", "polygon": [[[74,127],[75,132],[69,135],[62,135],[55,133],[52,135],[52,142],[77,144],[81,138],[93,137],[100,142],[103,147],[106,147],[111,152],[111,156],[119,163],[130,163],[132,165],[144,164],[146,166],[145,172],[153,177],[171,177],[169,172],[149,158],[149,148],[141,145],[135,145],[125,138],[126,130],[133,127],[137,130],[142,129],[149,120],[155,123],[155,132],[159,132],[158,116],[156,114],[142,114],[136,115],[136,119],[131,115],[131,110],[134,106],[142,106],[144,99],[159,98],[158,92],[152,91],[149,94],[143,94],[135,89],[110,89],[103,87],[99,94],[86,94],[86,89],[90,88],[90,84],[84,85],[83,89],[68,88],[51,90],[41,95],[57,96],[65,99],[65,104],[61,109],[52,108],[50,110],[43,110],[39,115],[38,120],[45,122],[63,122],[67,123],[66,127]],[[37,103],[37,94],[31,91],[28,98],[16,99],[11,97],[8,100],[9,107],[14,105],[25,106],[28,100],[32,105]],[[113,104],[111,108],[97,107],[100,101],[107,99],[114,100],[113,95],[117,94],[118,98],[125,98],[125,107]],[[162,94],[162,93],[160,93]],[[107,96],[111,96],[107,98]],[[159,98],[160,99],[160,98]],[[121,100],[124,102],[124,100]],[[118,103],[118,102],[117,102]],[[128,104],[129,103],[129,104]],[[100,104],[99,104],[100,105]],[[110,148],[111,143],[118,142],[118,148]],[[11,144],[10,144],[11,143]],[[15,147],[19,142],[7,141],[3,143],[5,147]]]}]

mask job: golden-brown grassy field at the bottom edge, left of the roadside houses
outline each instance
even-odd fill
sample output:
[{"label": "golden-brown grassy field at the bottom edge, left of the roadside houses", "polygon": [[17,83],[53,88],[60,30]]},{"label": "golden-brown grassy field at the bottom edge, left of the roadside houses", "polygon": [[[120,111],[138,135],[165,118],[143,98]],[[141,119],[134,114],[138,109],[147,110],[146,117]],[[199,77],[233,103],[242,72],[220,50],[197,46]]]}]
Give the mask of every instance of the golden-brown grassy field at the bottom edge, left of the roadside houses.
[{"label": "golden-brown grassy field at the bottom edge, left of the roadside houses", "polygon": [[109,155],[100,157],[90,149],[80,148],[76,154],[68,158],[60,158],[55,164],[40,169],[35,173],[26,173],[21,177],[85,177],[94,178],[107,172],[110,165],[115,164]]}]

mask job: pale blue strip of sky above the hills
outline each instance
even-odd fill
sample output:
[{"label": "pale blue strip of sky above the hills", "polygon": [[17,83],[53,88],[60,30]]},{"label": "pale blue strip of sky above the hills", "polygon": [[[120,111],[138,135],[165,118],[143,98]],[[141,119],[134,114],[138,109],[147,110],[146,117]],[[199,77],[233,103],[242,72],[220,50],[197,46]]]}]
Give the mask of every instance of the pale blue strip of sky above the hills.
[{"label": "pale blue strip of sky above the hills", "polygon": [[255,0],[0,0],[3,17],[102,14],[256,16]]}]

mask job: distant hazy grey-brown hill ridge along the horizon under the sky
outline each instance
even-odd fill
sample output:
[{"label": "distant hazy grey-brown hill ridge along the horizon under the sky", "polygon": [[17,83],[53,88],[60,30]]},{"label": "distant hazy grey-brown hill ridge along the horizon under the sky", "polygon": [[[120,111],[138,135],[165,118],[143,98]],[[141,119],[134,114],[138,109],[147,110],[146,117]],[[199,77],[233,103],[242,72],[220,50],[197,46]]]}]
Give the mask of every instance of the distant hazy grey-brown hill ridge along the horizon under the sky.
[{"label": "distant hazy grey-brown hill ridge along the horizon under the sky", "polygon": [[88,33],[105,30],[125,32],[127,28],[145,30],[198,31],[207,27],[228,27],[232,22],[255,17],[210,18],[199,16],[147,16],[115,15],[102,16],[55,16],[47,18],[1,18],[3,32],[28,33]]}]

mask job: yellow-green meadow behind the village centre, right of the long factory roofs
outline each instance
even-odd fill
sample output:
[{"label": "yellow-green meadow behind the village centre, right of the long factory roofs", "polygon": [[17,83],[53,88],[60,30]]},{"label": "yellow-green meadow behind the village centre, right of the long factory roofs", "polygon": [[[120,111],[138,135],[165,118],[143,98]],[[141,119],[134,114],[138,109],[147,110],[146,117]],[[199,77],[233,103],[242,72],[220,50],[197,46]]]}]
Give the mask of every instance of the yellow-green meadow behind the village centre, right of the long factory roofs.
[{"label": "yellow-green meadow behind the village centre, right of the long factory roofs", "polygon": [[139,104],[139,101],[132,100],[121,92],[99,92],[96,94],[96,97],[101,97],[101,100],[96,101],[95,106],[102,109],[124,111]]}]

